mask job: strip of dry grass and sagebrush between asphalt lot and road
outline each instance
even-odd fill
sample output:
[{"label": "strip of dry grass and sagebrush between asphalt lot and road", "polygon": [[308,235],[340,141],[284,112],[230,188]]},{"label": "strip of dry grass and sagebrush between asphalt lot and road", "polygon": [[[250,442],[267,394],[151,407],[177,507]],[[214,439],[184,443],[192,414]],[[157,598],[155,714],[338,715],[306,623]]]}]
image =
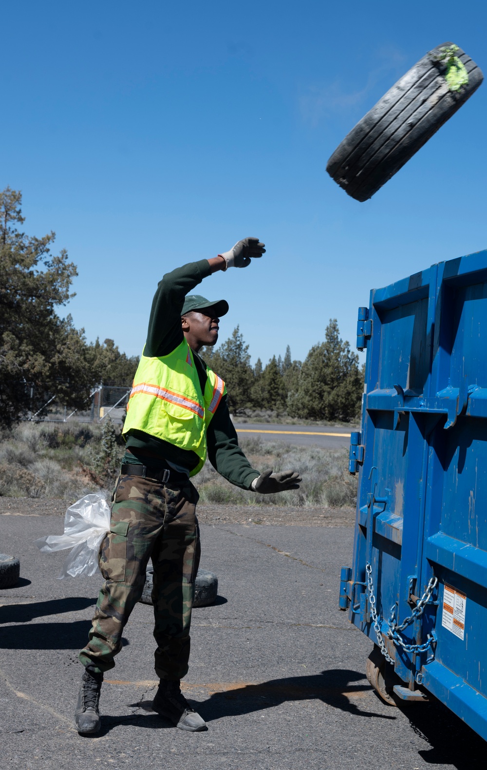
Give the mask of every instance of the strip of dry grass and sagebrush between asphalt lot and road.
[{"label": "strip of dry grass and sagebrush between asphalt lot and road", "polygon": [[[99,490],[94,468],[102,430],[88,423],[21,423],[0,435],[0,496],[53,497],[77,500]],[[234,487],[206,463],[193,479],[200,500],[207,504],[327,508],[355,507],[356,480],[348,474],[346,450],[293,447],[260,437],[242,439],[242,449],[257,470],[299,470],[299,490],[259,495]],[[118,447],[121,456],[123,449]],[[115,458],[114,465],[120,457]],[[110,488],[112,480],[105,480]]]}]

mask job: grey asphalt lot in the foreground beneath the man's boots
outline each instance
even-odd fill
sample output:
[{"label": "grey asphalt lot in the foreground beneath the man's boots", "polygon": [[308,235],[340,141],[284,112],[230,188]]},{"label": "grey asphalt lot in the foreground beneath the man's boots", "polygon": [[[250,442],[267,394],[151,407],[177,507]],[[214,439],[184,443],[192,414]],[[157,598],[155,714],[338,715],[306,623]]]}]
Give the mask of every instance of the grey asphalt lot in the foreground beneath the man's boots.
[{"label": "grey asphalt lot in the foreground beneath the man's boots", "polygon": [[[23,582],[0,591],[2,767],[36,770],[471,770],[485,743],[436,704],[391,708],[365,679],[370,642],[337,609],[351,528],[202,527],[202,565],[221,598],[194,611],[185,692],[208,731],[151,710],[152,608],[138,604],[102,688],[102,731],[72,726],[96,577],[57,581],[63,553],[32,541],[61,517],[0,516],[2,551]],[[481,765],[482,762],[482,765]]]}]

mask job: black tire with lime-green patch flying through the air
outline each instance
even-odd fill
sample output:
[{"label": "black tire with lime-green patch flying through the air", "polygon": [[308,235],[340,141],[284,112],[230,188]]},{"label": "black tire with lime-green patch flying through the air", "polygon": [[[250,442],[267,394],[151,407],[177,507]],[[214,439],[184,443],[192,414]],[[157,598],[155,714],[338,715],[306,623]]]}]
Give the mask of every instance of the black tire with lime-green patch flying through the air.
[{"label": "black tire with lime-green patch flying through the air", "polygon": [[429,51],[382,96],[339,144],[327,172],[349,196],[372,198],[482,83],[482,70],[462,49],[455,52],[469,75],[459,91],[445,79],[438,61],[446,42]]}]

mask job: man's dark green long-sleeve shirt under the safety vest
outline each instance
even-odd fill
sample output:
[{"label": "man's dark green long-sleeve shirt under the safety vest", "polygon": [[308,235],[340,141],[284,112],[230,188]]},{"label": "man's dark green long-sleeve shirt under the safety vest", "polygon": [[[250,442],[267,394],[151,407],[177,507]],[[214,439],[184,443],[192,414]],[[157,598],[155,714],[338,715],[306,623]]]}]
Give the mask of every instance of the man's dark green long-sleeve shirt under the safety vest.
[{"label": "man's dark green long-sleeve shirt under the safety vest", "polygon": [[[149,357],[167,356],[182,343],[182,306],[186,294],[192,292],[198,283],[211,274],[207,259],[190,262],[166,273],[158,283],[151,315],[148,321],[147,340],[144,355]],[[195,368],[198,372],[202,392],[205,390],[205,363],[193,351]],[[227,397],[224,396],[212,417],[206,433],[208,460],[225,479],[242,489],[250,489],[259,471],[252,468],[249,460],[238,446],[238,438],[228,412]],[[129,430],[127,448],[145,464],[157,464],[158,460],[193,470],[198,464],[195,452],[180,449],[168,441],[145,434],[142,430]]]}]

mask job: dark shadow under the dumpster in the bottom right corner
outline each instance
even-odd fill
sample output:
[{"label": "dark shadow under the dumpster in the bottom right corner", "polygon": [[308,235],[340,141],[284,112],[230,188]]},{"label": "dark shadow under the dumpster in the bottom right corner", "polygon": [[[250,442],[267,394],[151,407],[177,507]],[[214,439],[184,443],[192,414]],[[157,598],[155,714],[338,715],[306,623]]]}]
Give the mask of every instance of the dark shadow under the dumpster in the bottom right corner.
[{"label": "dark shadow under the dumpster in the bottom right corner", "polygon": [[399,708],[427,745],[418,752],[423,762],[456,770],[485,766],[487,745],[483,738],[442,703],[401,704]]}]

